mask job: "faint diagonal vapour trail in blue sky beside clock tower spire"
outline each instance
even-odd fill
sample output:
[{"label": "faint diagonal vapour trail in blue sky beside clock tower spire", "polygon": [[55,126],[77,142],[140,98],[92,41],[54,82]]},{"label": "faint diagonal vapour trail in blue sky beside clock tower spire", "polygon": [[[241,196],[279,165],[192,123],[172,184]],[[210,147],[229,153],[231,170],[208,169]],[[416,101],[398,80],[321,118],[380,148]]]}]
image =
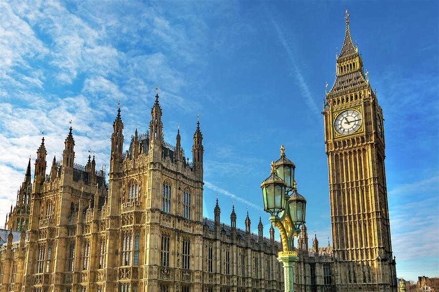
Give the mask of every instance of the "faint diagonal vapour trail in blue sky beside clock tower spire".
[{"label": "faint diagonal vapour trail in blue sky beside clock tower spire", "polygon": [[306,105],[308,106],[308,108],[312,112],[319,112],[319,109],[317,108],[316,103],[314,102],[314,99],[311,95],[311,91],[309,90],[308,85],[306,84],[305,79],[303,77],[303,74],[300,71],[299,66],[297,65],[297,60],[296,60],[295,55],[293,54],[293,50],[291,49],[291,47],[288,44],[285,37],[283,36],[283,32],[280,29],[276,20],[271,17],[271,21],[273,22],[273,25],[276,29],[277,34],[278,34],[278,38],[279,38],[280,42],[282,43],[282,46],[285,48],[285,51],[287,52],[288,57],[290,58],[291,64],[293,65],[294,72],[296,73],[295,74],[296,79],[297,79],[299,86],[302,89],[303,94],[305,95],[305,98],[306,98]]}]

